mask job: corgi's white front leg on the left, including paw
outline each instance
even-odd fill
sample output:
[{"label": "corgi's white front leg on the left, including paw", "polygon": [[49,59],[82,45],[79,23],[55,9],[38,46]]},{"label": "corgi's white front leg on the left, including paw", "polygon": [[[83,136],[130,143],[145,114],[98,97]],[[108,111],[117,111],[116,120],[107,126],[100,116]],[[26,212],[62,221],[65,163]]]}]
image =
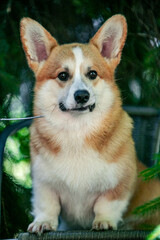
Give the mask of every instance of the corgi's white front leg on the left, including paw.
[{"label": "corgi's white front leg on the left, including paw", "polygon": [[58,227],[60,203],[56,192],[50,184],[33,181],[33,215],[34,221],[28,226],[31,233],[55,231]]}]

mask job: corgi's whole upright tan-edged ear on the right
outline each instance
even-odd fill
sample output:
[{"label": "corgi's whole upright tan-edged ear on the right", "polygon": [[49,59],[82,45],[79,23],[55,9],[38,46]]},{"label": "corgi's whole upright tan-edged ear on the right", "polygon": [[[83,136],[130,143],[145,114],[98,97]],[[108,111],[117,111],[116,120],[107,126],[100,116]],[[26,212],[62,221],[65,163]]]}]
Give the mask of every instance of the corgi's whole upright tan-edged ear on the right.
[{"label": "corgi's whole upright tan-edged ear on the right", "polygon": [[121,52],[125,44],[126,36],[126,19],[124,16],[118,14],[108,19],[102,25],[90,40],[90,43],[99,49],[104,58],[113,60],[117,66],[121,59]]}]

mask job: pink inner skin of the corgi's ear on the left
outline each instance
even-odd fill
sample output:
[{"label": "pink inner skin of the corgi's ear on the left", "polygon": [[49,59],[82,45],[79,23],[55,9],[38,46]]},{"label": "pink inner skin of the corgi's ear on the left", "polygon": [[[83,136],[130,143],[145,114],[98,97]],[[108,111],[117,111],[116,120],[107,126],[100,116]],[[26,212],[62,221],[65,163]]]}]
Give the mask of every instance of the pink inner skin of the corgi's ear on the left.
[{"label": "pink inner skin of the corgi's ear on the left", "polygon": [[34,42],[35,49],[36,49],[36,55],[38,58],[38,62],[46,60],[48,57],[45,44],[40,38],[41,38],[41,36],[39,36],[38,34],[34,34],[32,36],[32,40]]}]

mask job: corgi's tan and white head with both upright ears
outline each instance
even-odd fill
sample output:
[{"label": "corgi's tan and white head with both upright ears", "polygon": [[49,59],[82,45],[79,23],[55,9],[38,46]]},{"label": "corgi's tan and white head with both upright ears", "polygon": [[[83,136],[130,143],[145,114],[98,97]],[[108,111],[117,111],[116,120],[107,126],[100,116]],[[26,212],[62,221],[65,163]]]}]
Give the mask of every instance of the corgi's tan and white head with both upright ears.
[{"label": "corgi's tan and white head with both upright ears", "polygon": [[[21,39],[36,76],[38,114],[81,115],[110,108],[115,101],[114,71],[127,35],[126,20],[115,15],[88,44],[59,45],[38,22],[23,18]],[[50,110],[49,110],[50,108]]]}]

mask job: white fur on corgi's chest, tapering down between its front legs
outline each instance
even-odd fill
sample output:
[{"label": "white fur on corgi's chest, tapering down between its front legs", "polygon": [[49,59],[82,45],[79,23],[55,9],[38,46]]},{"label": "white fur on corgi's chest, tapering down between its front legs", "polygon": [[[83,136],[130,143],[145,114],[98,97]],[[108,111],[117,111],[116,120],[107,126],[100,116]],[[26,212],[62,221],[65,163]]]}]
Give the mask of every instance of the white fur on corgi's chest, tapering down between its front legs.
[{"label": "white fur on corgi's chest, tapering down between its front legs", "polygon": [[36,157],[33,175],[57,192],[62,213],[69,221],[87,227],[93,220],[95,200],[100,193],[114,188],[121,174],[117,163],[108,163],[80,140],[77,145],[73,139],[66,139],[57,156],[45,150]]}]

